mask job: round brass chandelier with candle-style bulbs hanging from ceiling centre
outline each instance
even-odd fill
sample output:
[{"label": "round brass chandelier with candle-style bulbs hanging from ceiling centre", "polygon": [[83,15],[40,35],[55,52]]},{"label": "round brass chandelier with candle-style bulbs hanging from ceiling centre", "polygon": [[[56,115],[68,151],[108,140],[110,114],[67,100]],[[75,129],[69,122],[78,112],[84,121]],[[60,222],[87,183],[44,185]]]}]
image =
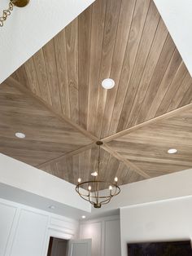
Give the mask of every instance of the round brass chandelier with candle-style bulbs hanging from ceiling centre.
[{"label": "round brass chandelier with candle-style bulbs hanging from ceiling centre", "polygon": [[[107,205],[111,198],[117,196],[120,193],[120,187],[117,185],[118,179],[115,178],[114,182],[103,181],[99,179],[100,174],[100,151],[102,141],[97,141],[98,145],[98,168],[91,175],[93,180],[88,180],[81,182],[81,178],[78,179],[78,184],[76,185],[76,192],[85,201],[89,201],[94,208],[101,208],[102,205]],[[101,188],[107,188],[101,191]]]}]

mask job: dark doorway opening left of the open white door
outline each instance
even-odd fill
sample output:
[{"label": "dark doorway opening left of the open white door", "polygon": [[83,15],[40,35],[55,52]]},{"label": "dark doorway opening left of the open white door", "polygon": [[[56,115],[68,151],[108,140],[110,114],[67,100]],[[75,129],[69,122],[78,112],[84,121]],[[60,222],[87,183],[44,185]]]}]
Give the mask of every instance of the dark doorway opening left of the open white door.
[{"label": "dark doorway opening left of the open white door", "polygon": [[47,256],[67,256],[68,240],[50,236]]}]

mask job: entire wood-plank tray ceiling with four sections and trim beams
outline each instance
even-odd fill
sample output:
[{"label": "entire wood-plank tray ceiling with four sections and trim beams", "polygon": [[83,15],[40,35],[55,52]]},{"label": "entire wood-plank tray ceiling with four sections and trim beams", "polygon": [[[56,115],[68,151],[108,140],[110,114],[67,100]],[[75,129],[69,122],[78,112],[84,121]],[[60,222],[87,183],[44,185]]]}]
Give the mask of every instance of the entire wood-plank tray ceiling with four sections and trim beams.
[{"label": "entire wood-plank tray ceiling with four sections and trim beams", "polygon": [[[111,90],[101,86],[107,77]],[[101,175],[118,174],[120,184],[192,166],[192,78],[152,0],[96,0],[3,83],[0,97],[0,152],[71,183],[89,178],[98,139]],[[24,141],[14,139],[19,129]]]}]

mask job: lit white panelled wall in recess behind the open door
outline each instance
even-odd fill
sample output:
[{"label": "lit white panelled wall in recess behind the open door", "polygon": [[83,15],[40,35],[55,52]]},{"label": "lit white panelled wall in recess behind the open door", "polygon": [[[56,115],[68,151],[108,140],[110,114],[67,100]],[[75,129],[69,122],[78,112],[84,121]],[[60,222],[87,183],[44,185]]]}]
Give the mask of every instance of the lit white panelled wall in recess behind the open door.
[{"label": "lit white panelled wall in recess behind the open door", "polygon": [[92,239],[91,256],[120,256],[120,216],[81,222],[80,238]]}]

